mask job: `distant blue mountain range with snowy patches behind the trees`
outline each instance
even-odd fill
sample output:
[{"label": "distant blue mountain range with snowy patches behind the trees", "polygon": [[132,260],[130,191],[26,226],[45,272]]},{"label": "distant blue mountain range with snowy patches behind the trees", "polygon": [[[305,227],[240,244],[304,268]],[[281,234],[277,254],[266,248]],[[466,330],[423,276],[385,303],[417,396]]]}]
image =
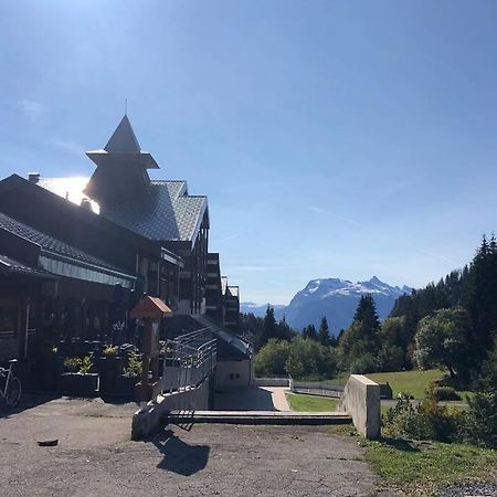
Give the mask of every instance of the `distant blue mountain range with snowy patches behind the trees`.
[{"label": "distant blue mountain range with snowy patches behind the trees", "polygon": [[[373,276],[367,282],[352,283],[340,278],[311,279],[305,288],[297,292],[287,306],[272,305],[276,319],[283,316],[289,326],[302,330],[307,325],[319,327],[322,316],[328,319],[332,335],[347,328],[353,319],[357,305],[362,295],[371,295],[377,305],[380,319],[384,319],[392,310],[393,304],[401,295],[412,293],[409,286],[391,286]],[[267,304],[242,303],[241,313],[253,313],[263,317]]]}]

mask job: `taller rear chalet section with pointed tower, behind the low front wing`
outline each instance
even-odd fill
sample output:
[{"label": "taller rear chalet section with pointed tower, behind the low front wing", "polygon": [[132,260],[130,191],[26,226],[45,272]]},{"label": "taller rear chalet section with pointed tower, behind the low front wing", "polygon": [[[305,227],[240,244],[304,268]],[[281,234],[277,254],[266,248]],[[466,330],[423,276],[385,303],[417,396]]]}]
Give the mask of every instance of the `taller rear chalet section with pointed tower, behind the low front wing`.
[{"label": "taller rear chalet section with pointed tower, behind the low front wing", "polygon": [[[43,187],[70,201],[88,205],[101,218],[141,236],[184,262],[178,294],[168,305],[178,314],[205,310],[208,199],[190,195],[186,181],[151,180],[159,166],[142,151],[124,116],[102,150],[86,152],[96,169],[75,187],[71,178],[39,178]],[[159,295],[159,293],[157,294]]]}]

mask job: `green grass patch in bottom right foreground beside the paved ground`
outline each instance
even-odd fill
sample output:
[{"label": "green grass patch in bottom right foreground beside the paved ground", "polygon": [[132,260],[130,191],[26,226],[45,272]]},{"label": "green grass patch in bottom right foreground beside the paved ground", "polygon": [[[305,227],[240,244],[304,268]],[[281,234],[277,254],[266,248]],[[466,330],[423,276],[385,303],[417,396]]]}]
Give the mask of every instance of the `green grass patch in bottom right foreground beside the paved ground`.
[{"label": "green grass patch in bottom right foreground beside the paved ground", "polygon": [[[466,444],[433,443],[421,450],[401,441],[368,442],[367,459],[385,486],[426,495],[465,478],[497,478],[497,452]],[[415,448],[415,447],[414,447]]]}]

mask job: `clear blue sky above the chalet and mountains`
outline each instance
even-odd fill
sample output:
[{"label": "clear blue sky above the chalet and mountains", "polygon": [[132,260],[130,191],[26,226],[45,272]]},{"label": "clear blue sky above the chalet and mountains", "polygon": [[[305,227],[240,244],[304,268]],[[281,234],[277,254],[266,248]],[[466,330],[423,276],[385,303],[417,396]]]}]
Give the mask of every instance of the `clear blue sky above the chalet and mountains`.
[{"label": "clear blue sky above the chalet and mountains", "polygon": [[89,176],[124,110],[208,194],[243,300],[423,286],[497,229],[495,1],[0,3],[0,176]]}]

